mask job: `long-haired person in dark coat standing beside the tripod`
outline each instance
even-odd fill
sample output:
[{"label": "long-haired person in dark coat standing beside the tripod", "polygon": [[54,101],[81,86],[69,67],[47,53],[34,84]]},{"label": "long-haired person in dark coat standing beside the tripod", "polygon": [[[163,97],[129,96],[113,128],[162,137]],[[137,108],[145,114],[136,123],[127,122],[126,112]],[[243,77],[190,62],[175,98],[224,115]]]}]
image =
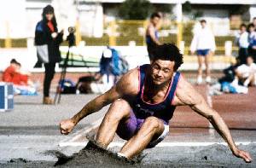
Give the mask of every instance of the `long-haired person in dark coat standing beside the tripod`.
[{"label": "long-haired person in dark coat standing beside the tripod", "polygon": [[45,67],[43,103],[53,104],[53,100],[49,97],[49,88],[55,75],[55,63],[61,61],[59,46],[63,41],[63,31],[58,32],[54,8],[52,6],[47,5],[43,10],[42,16],[43,19],[36,26],[35,44],[47,44],[48,47],[49,61],[43,61]]}]

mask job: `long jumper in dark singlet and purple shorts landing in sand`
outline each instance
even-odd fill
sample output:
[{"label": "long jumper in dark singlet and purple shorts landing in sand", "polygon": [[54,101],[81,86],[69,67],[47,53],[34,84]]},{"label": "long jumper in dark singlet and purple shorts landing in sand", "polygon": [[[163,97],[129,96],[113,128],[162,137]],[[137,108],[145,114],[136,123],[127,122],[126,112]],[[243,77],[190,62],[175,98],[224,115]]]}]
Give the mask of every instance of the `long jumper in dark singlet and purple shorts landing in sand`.
[{"label": "long jumper in dark singlet and purple shorts landing in sand", "polygon": [[161,142],[169,132],[175,107],[187,105],[212,123],[236,157],[251,162],[250,154],[236,147],[224,120],[177,72],[182,63],[183,55],[175,45],[157,46],[150,65],[127,72],[111,90],[90,101],[72,119],[61,121],[61,133],[67,135],[81,119],[112,103],[97,132],[96,142],[107,148],[117,133],[127,140],[119,155],[131,159]]}]

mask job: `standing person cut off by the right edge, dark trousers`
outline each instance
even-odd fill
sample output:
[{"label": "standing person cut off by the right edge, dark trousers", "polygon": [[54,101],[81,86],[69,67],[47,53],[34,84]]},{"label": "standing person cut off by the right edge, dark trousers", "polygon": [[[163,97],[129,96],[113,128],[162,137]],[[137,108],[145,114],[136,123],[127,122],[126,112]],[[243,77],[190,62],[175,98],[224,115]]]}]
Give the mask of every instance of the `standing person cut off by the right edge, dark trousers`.
[{"label": "standing person cut off by the right edge, dark trousers", "polygon": [[248,46],[248,55],[253,56],[254,62],[256,61],[256,32],[255,27],[253,26],[253,23],[249,24],[247,26],[248,31],[248,40],[249,40],[249,46]]}]

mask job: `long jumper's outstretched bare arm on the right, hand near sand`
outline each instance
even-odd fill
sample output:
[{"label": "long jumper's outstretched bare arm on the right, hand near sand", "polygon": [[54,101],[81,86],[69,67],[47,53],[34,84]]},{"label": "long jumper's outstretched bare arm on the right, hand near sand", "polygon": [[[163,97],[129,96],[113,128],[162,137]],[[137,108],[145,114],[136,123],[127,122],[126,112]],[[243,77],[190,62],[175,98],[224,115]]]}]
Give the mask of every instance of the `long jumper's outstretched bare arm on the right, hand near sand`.
[{"label": "long jumper's outstretched bare arm on the right, hand near sand", "polygon": [[207,118],[215,130],[218,131],[219,135],[222,136],[225,142],[228,143],[232,153],[236,155],[236,157],[242,158],[246,162],[252,161],[250,154],[236,147],[224,119],[222,119],[215,110],[209,107],[204,98],[193,88],[191,84],[189,84],[189,82],[182,77],[177,86],[177,92],[173,103],[177,106],[187,105],[196,113],[199,113],[201,116]]}]

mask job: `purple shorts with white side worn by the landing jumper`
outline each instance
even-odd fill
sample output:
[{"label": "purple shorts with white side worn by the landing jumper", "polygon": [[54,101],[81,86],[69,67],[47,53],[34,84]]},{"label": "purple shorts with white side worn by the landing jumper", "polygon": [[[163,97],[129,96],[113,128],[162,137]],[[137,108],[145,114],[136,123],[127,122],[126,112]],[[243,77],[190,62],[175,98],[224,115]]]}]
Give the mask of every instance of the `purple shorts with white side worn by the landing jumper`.
[{"label": "purple shorts with white side worn by the landing jumper", "polygon": [[[123,123],[123,122],[119,123],[116,133],[120,138],[129,140],[131,139],[132,136],[135,136],[138,130],[140,130],[144,120],[145,119],[137,119],[137,117],[131,110],[129,121],[126,123]],[[164,126],[165,126],[165,130],[163,131],[163,133],[154,141],[149,142],[147,148],[154,148],[158,143],[160,143],[165,139],[165,137],[169,133],[169,125],[164,125]]]}]

